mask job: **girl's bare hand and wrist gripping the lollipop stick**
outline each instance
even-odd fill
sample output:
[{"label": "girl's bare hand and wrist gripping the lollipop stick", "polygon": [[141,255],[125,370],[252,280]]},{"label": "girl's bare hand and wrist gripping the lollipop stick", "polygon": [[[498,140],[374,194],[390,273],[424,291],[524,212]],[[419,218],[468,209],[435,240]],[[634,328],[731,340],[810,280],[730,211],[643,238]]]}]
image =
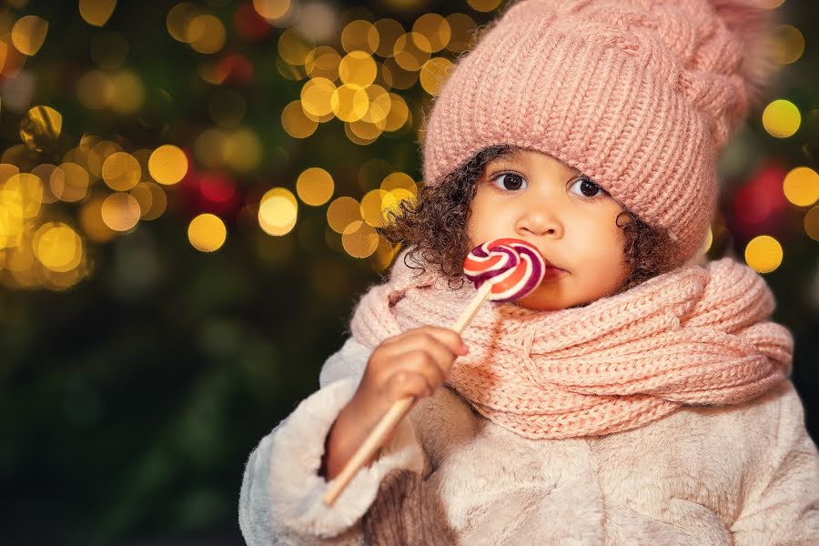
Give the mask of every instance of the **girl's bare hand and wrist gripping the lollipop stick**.
[{"label": "girl's bare hand and wrist gripping the lollipop stick", "polygon": [[[330,430],[322,474],[332,480],[393,402],[430,396],[449,375],[452,362],[467,352],[460,335],[446,328],[424,326],[384,339],[370,355],[359,388]],[[393,434],[394,430],[382,445]]]}]

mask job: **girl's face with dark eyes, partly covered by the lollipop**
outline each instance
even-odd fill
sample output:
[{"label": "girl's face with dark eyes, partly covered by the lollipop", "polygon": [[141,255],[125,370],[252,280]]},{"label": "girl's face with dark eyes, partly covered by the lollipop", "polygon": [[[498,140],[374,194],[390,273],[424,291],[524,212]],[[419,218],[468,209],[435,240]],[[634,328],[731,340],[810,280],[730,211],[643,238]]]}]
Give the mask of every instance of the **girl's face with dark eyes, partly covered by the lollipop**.
[{"label": "girl's face with dark eyes, partly covered by the lollipop", "polygon": [[496,157],[478,181],[467,233],[472,247],[495,238],[521,238],[557,270],[518,304],[571,308],[611,295],[629,276],[625,236],[616,223],[622,206],[554,157],[518,149]]}]

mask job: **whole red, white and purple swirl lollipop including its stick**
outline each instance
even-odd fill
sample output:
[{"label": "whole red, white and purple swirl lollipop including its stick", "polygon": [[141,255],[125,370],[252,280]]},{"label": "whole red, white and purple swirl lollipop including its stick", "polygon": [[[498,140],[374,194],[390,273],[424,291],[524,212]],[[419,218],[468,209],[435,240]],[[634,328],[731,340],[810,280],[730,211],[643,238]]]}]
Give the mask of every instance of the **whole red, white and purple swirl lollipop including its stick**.
[{"label": "whole red, white and purple swirl lollipop including its stick", "polygon": [[[546,272],[546,262],[541,253],[530,243],[516,238],[500,238],[472,248],[464,260],[463,272],[478,288],[469,305],[452,327],[459,334],[470,324],[483,302],[511,301],[523,298],[537,288]],[[378,450],[381,442],[407,414],[415,397],[396,400],[384,414],[379,424],[369,433],[344,469],[330,484],[323,501],[332,505],[341,491],[347,487],[364,462]]]}]

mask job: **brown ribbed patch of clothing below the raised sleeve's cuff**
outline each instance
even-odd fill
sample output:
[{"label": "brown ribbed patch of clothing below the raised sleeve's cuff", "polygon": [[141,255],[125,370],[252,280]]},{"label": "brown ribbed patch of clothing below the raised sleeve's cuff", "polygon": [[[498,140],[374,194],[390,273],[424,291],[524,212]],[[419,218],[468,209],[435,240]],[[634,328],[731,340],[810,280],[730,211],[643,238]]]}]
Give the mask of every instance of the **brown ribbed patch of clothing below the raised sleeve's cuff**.
[{"label": "brown ribbed patch of clothing below the raised sleeve's cuff", "polygon": [[450,529],[432,486],[411,470],[390,470],[376,500],[362,518],[369,546],[450,546]]}]

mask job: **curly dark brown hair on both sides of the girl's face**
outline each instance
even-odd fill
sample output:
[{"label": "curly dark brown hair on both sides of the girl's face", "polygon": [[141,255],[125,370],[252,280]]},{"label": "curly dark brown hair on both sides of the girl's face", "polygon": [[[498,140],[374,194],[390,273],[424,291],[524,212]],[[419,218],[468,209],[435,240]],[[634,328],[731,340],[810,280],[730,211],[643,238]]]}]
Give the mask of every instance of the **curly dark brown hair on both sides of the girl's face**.
[{"label": "curly dark brown hair on both sides of the girl's face", "polygon": [[[456,288],[455,282],[462,286],[463,260],[471,250],[467,219],[477,181],[492,159],[512,149],[509,145],[483,148],[445,177],[440,185],[420,187],[416,199],[401,201],[398,211],[389,211],[387,222],[379,232],[390,243],[410,248],[404,257],[407,267],[423,272],[425,264],[437,266],[449,279],[450,288]],[[625,207],[616,221],[625,235],[623,253],[631,271],[616,293],[672,268],[672,240],[665,230],[650,227]]]}]

